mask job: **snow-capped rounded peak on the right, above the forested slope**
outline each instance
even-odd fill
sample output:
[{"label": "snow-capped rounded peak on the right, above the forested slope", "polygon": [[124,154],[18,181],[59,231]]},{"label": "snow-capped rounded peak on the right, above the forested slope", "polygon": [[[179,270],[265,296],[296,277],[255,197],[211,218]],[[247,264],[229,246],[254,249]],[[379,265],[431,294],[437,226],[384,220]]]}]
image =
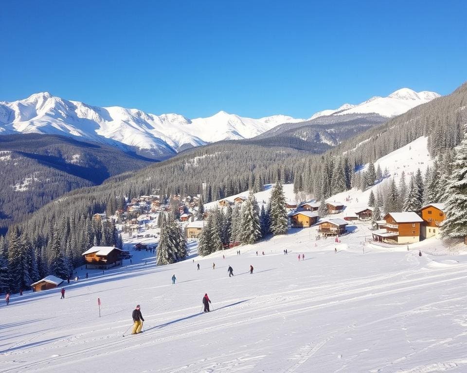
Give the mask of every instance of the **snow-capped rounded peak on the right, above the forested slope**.
[{"label": "snow-capped rounded peak on the right, above the forested slope", "polygon": [[410,88],[401,88],[391,93],[388,97],[375,96],[357,105],[349,103],[343,104],[338,109],[323,110],[314,114],[310,119],[323,117],[326,115],[344,114],[369,114],[375,113],[382,117],[395,117],[422,103],[429,102],[440,97],[436,92],[421,91],[415,92]]}]

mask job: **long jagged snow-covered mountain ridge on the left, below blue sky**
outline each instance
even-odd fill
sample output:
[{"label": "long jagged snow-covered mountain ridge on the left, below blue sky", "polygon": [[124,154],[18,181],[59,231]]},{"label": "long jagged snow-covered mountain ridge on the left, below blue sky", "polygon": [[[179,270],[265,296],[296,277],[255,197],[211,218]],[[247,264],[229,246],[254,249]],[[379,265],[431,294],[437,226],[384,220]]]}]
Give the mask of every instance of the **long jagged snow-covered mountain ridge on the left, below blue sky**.
[{"label": "long jagged snow-covered mountain ridge on the left, below blue sky", "polygon": [[124,144],[160,156],[213,141],[250,138],[278,124],[302,120],[283,115],[242,118],[223,111],[209,118],[190,120],[178,114],[158,116],[119,106],[90,106],[48,92],[25,100],[0,102],[0,134],[79,136],[112,145]]}]

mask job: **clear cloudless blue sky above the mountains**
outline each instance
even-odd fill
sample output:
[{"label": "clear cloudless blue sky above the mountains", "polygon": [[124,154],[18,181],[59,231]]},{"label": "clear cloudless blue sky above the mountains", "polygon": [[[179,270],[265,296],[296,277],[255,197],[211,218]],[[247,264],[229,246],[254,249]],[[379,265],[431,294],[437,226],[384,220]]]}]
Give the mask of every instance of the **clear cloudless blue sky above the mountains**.
[{"label": "clear cloudless blue sky above the mountains", "polygon": [[467,80],[467,1],[2,1],[0,101],[306,118]]}]

